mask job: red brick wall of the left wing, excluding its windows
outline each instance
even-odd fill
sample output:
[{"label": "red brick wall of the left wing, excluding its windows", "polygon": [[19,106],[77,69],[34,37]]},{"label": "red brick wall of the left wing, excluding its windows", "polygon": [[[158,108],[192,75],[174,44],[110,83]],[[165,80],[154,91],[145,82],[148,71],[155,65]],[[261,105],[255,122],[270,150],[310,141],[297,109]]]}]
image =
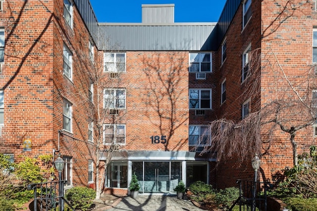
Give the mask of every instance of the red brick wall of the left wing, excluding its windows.
[{"label": "red brick wall of the left wing, excluding its windows", "polygon": [[[76,7],[73,30],[65,24],[63,1],[4,1],[4,128],[0,152],[37,158],[58,149],[63,98],[73,104],[72,134],[60,138],[60,153],[73,157],[73,184],[87,185],[88,159],[95,158],[88,139],[89,33]],[[11,17],[11,18],[9,18]],[[73,82],[63,76],[63,43],[73,53]],[[81,59],[81,62],[79,62]],[[23,152],[23,140],[32,151]],[[55,157],[56,158],[56,157]],[[95,165],[94,165],[95,166]]]}]

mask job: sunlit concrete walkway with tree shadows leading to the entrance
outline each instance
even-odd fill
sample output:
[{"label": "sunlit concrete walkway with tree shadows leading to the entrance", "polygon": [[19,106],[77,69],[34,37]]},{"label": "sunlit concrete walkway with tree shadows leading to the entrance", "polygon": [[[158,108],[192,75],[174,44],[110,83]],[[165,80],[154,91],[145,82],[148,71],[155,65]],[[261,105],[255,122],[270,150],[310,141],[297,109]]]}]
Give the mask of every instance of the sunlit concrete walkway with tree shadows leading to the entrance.
[{"label": "sunlit concrete walkway with tree shadows leading to the entrance", "polygon": [[106,211],[202,211],[189,200],[179,200],[176,196],[143,195],[132,199],[122,198],[119,204]]}]

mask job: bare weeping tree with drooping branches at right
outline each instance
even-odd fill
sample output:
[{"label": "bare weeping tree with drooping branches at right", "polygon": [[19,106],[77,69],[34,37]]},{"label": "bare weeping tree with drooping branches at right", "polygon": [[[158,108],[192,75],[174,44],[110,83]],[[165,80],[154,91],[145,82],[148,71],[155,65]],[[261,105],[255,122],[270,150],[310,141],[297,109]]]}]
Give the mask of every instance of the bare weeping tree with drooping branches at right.
[{"label": "bare weeping tree with drooping branches at right", "polygon": [[[249,65],[248,87],[235,101],[243,102],[242,98],[251,98],[254,109],[242,120],[224,117],[212,121],[208,130],[212,147],[205,147],[203,153],[215,151],[218,160],[230,158],[234,154],[239,154],[241,160],[250,153],[268,155],[271,146],[278,144],[279,133],[283,131],[288,133],[293,149],[293,164],[297,165],[296,134],[315,124],[317,120],[315,67],[308,66],[308,70],[301,75],[291,74],[292,70],[284,69],[272,50],[265,54],[254,50],[250,55]],[[271,86],[266,87],[272,97],[260,105],[263,73],[260,71],[264,70],[269,71],[272,79]]]}]

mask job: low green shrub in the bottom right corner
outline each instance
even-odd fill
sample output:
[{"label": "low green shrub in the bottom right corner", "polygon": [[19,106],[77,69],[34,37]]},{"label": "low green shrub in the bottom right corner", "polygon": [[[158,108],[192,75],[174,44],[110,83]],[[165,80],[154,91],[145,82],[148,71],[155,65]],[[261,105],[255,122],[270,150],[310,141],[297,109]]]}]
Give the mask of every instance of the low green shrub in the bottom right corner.
[{"label": "low green shrub in the bottom right corner", "polygon": [[317,211],[317,199],[288,198],[285,203],[292,211]]}]

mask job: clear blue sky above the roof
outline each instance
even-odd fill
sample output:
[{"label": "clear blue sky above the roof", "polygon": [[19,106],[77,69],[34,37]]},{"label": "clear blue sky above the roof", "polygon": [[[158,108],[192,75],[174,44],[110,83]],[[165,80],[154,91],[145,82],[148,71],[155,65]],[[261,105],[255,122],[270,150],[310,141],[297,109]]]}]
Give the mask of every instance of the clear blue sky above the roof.
[{"label": "clear blue sky above the roof", "polygon": [[217,22],[226,0],[90,0],[99,22],[141,23],[142,4],[174,3],[175,22]]}]

